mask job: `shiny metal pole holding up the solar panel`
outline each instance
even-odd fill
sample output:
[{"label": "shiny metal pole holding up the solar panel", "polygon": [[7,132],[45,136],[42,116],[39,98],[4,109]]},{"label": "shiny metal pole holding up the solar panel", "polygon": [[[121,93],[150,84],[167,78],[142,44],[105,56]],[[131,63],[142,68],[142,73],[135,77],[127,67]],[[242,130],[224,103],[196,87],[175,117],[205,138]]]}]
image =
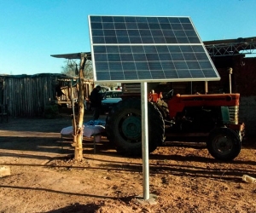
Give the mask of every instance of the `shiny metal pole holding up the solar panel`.
[{"label": "shiny metal pole holding up the solar panel", "polygon": [[143,142],[143,199],[149,199],[149,164],[148,164],[148,85],[141,83],[142,142]]}]

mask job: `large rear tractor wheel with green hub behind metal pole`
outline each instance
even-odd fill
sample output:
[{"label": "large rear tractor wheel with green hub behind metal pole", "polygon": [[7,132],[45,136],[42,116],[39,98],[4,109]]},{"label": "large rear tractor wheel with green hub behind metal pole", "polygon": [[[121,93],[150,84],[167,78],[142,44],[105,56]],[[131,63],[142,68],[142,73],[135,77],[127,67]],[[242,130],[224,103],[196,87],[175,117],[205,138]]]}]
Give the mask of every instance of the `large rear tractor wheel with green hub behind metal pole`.
[{"label": "large rear tractor wheel with green hub behind metal pole", "polygon": [[[106,132],[118,153],[142,156],[141,100],[129,98],[120,101],[108,113]],[[163,117],[153,104],[148,102],[148,151],[152,153],[164,141]]]}]

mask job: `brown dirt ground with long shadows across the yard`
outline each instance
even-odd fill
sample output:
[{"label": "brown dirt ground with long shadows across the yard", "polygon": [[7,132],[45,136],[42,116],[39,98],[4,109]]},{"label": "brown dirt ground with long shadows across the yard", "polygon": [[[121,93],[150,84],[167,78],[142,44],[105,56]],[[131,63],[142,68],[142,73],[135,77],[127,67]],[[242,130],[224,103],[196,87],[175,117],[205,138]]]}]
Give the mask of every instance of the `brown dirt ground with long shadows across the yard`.
[{"label": "brown dirt ground with long shadows across the yard", "polygon": [[[90,119],[85,117],[84,121]],[[73,160],[72,139],[61,144],[60,118],[10,118],[0,124],[0,212],[256,212],[255,140],[239,156],[220,162],[203,142],[172,141],[149,155],[149,193],[144,199],[142,158],[124,158],[106,139],[84,140],[84,160]],[[62,147],[62,148],[61,148]]]}]

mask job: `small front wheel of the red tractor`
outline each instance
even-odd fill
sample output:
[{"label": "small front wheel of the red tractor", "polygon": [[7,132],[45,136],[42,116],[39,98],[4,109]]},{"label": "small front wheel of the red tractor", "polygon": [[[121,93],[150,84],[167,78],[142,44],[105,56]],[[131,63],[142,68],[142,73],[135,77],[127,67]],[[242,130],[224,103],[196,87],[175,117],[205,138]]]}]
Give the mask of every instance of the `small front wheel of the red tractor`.
[{"label": "small front wheel of the red tractor", "polygon": [[213,158],[230,161],[241,151],[241,140],[234,130],[217,128],[210,132],[207,149]]}]

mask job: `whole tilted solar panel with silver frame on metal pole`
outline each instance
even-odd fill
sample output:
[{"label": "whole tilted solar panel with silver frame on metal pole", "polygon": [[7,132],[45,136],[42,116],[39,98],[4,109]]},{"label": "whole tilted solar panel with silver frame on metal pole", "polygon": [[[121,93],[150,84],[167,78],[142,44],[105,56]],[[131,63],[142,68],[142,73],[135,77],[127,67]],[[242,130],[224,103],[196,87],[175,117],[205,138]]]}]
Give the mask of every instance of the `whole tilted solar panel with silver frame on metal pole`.
[{"label": "whole tilted solar panel with silver frame on metal pole", "polygon": [[189,17],[89,15],[98,82],[219,80]]}]

